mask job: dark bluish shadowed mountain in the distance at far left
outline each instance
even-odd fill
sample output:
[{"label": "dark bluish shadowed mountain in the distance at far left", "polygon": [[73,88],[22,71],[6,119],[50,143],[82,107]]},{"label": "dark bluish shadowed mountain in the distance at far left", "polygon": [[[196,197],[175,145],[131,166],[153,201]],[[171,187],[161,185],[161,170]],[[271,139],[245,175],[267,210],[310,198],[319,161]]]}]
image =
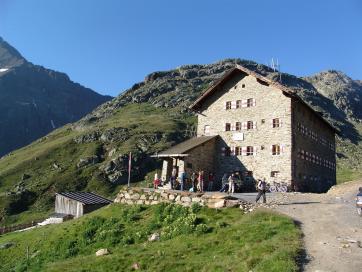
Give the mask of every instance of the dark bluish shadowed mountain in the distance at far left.
[{"label": "dark bluish shadowed mountain in the distance at far left", "polygon": [[0,38],[0,156],[75,122],[111,99],[28,62]]}]

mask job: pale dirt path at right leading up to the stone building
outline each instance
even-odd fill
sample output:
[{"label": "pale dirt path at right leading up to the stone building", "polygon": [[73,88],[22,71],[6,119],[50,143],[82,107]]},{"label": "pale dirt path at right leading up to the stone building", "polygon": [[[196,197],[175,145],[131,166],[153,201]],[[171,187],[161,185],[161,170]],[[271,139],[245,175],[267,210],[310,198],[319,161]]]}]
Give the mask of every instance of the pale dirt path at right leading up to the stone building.
[{"label": "pale dirt path at right leading up to the stone building", "polygon": [[362,181],[336,186],[327,194],[275,194],[276,210],[301,224],[307,272],[362,271],[362,217],[355,195]]}]

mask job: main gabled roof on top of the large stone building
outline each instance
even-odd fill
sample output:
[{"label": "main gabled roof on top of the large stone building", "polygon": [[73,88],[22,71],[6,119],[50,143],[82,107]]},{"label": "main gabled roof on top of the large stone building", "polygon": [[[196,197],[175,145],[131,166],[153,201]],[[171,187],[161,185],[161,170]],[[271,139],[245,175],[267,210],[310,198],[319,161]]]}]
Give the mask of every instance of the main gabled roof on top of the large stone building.
[{"label": "main gabled roof on top of the large stone building", "polygon": [[316,112],[311,106],[309,106],[300,96],[297,95],[296,91],[278,83],[275,82],[273,80],[270,80],[269,78],[266,78],[254,71],[249,70],[248,68],[245,68],[241,65],[236,65],[235,68],[230,69],[230,71],[226,72],[226,74],[221,77],[218,81],[216,81],[215,84],[213,84],[212,86],[210,86],[208,89],[206,89],[206,91],[201,94],[201,96],[199,96],[199,98],[196,99],[196,101],[194,103],[192,103],[189,108],[191,110],[197,111],[200,107],[202,102],[208,98],[209,96],[211,96],[212,94],[214,94],[217,90],[218,87],[222,84],[224,84],[225,82],[227,82],[231,77],[233,77],[236,73],[245,73],[247,75],[253,76],[255,77],[257,80],[269,85],[269,86],[273,86],[279,90],[281,90],[282,92],[288,94],[290,97],[297,99],[299,102],[301,102],[302,104],[304,104],[306,107],[308,107],[309,109],[311,109],[322,121],[324,121],[324,123],[326,123],[332,130],[334,130],[336,133],[339,133],[338,129],[335,128],[332,124],[330,124],[326,119],[324,119],[320,113]]}]

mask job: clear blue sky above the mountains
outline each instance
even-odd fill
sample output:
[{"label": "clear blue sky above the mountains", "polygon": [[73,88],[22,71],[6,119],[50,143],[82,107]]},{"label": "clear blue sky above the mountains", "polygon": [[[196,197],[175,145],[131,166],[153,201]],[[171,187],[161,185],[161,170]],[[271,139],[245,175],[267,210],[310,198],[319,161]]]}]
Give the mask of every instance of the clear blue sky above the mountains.
[{"label": "clear blue sky above the mountains", "polygon": [[153,71],[234,57],[362,79],[359,0],[0,0],[0,36],[114,96]]}]

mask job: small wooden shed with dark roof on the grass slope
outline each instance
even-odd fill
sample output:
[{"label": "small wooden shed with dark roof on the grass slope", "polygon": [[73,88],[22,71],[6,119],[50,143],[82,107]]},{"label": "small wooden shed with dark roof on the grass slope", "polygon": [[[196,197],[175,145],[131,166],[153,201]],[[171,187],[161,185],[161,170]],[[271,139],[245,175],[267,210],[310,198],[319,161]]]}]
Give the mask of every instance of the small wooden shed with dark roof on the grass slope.
[{"label": "small wooden shed with dark roof on the grass slope", "polygon": [[75,218],[95,211],[113,201],[89,192],[65,192],[55,196],[55,213],[69,214]]}]

